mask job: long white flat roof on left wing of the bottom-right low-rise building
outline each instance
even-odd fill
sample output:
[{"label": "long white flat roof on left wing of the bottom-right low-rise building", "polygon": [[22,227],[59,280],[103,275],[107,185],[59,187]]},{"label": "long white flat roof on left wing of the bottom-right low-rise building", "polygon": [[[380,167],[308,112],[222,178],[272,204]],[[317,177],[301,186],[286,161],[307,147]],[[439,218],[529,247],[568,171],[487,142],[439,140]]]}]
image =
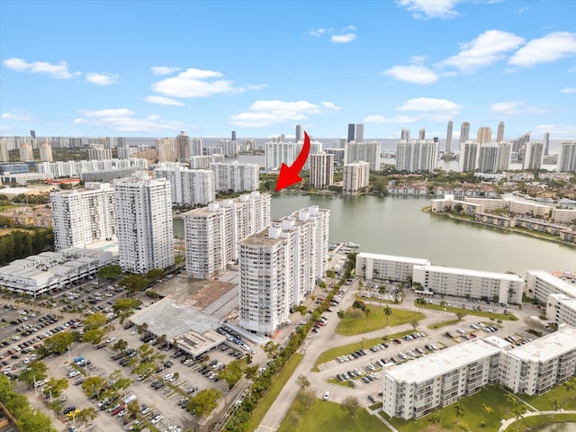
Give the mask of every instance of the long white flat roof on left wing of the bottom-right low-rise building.
[{"label": "long white flat roof on left wing of the bottom-right low-rise building", "polygon": [[499,347],[494,347],[483,339],[473,339],[455,347],[420,357],[408,363],[392,367],[386,374],[398,382],[422,383],[437,375],[468,365],[487,356],[500,353]]}]

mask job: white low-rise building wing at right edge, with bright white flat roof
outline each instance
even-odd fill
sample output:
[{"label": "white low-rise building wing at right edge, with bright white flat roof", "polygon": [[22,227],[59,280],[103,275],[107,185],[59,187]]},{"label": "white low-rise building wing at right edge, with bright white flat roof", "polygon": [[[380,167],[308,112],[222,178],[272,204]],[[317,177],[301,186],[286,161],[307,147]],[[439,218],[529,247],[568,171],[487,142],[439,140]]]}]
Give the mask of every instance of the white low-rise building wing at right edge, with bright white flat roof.
[{"label": "white low-rise building wing at right edge, with bright white flat roof", "polygon": [[558,331],[502,353],[500,383],[528,395],[548,392],[576,372],[576,329]]}]

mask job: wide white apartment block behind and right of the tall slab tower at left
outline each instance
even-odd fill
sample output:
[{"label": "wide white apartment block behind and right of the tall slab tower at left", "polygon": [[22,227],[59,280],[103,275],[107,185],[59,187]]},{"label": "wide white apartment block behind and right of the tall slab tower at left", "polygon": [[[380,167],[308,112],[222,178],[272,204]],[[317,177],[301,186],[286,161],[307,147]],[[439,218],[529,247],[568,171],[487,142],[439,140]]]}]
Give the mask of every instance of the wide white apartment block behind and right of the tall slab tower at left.
[{"label": "wide white apartment block behind and right of the tall slab tower at left", "polygon": [[207,204],[216,199],[214,172],[209,169],[165,163],[154,170],[154,175],[170,183],[171,200],[175,204]]}]

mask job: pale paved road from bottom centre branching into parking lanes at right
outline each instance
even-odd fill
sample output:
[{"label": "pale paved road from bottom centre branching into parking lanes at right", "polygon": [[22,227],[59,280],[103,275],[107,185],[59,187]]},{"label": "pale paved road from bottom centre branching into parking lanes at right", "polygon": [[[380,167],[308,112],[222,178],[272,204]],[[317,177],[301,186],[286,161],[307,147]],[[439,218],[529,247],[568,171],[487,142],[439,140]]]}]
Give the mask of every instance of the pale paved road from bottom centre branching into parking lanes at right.
[{"label": "pale paved road from bottom centre branching into parking lanes at right", "polygon": [[[345,285],[346,286],[346,285]],[[348,307],[352,305],[355,300],[355,293],[357,293],[357,281],[351,286],[347,287],[347,293],[344,296],[342,302],[338,306],[338,309],[346,310]],[[394,308],[408,310],[408,311],[415,311],[414,307],[414,300],[416,296],[412,293],[407,293],[404,299],[403,304],[393,305]],[[369,299],[366,299],[369,302]],[[335,308],[336,309],[336,308]],[[446,346],[453,346],[455,345],[455,341],[452,339],[448,339],[444,337],[446,331],[453,331],[455,332],[456,328],[462,328],[466,331],[473,331],[469,326],[470,324],[477,322],[477,321],[488,321],[488,319],[477,317],[473,315],[468,315],[464,317],[464,319],[455,324],[453,326],[447,326],[441,329],[428,329],[428,326],[439,321],[443,320],[450,320],[454,319],[455,315],[450,312],[444,311],[433,311],[433,310],[424,310],[424,313],[427,315],[427,319],[420,321],[419,331],[424,331],[427,334],[426,338],[418,338],[412,340],[408,343],[402,343],[400,346],[396,346],[392,344],[385,351],[380,351],[378,353],[372,353],[368,351],[367,356],[362,356],[354,361],[339,364],[337,361],[330,361],[324,365],[320,365],[320,373],[313,373],[311,372],[316,359],[318,358],[319,354],[323,351],[331,347],[339,347],[342,345],[347,345],[354,342],[361,342],[363,339],[370,339],[370,338],[378,338],[382,337],[383,335],[391,335],[392,333],[398,333],[405,330],[411,330],[412,327],[410,324],[404,324],[402,326],[397,326],[388,329],[380,329],[375,330],[369,333],[360,334],[356,336],[346,337],[341,336],[335,333],[335,329],[338,325],[338,316],[336,313],[328,313],[325,316],[329,317],[329,322],[326,327],[320,330],[320,333],[311,333],[309,338],[304,342],[302,346],[302,352],[304,353],[304,357],[302,358],[302,362],[300,365],[297,366],[296,370],[294,371],[292,377],[288,380],[286,385],[284,386],[283,391],[280,393],[279,397],[270,407],[270,410],[266,413],[265,418],[262,420],[259,427],[256,429],[255,432],[270,432],[271,430],[276,430],[280,427],[284,416],[290,409],[294,398],[296,397],[297,393],[300,391],[300,387],[296,384],[296,378],[303,374],[311,382],[311,389],[313,389],[319,398],[322,397],[324,392],[329,391],[330,401],[340,402],[349,395],[353,394],[358,397],[358,400],[367,407],[371,402],[367,401],[367,396],[369,394],[376,395],[380,392],[381,389],[381,381],[375,381],[370,384],[359,383],[356,389],[344,387],[338,384],[331,384],[328,383],[330,377],[335,376],[336,374],[341,374],[347,370],[352,368],[358,368],[361,372],[367,372],[365,369],[365,365],[370,363],[372,360],[381,358],[385,356],[386,358],[390,358],[390,356],[396,356],[399,351],[403,351],[404,353],[409,349],[414,349],[415,347],[423,347],[426,344],[432,343],[437,344],[441,343]],[[530,315],[537,315],[538,311],[536,307],[532,307],[532,305],[525,304],[524,311],[513,311],[520,320],[518,321],[505,321],[502,324],[502,329],[498,332],[497,336],[500,338],[505,338],[509,335],[520,335],[520,336],[529,336],[525,333],[527,329],[527,324],[525,322],[525,318]],[[484,332],[480,332],[478,334],[479,337],[485,337],[489,334],[484,334]],[[532,337],[534,338],[534,337]],[[369,347],[365,347],[369,348]],[[372,355],[372,356],[371,356]]]}]

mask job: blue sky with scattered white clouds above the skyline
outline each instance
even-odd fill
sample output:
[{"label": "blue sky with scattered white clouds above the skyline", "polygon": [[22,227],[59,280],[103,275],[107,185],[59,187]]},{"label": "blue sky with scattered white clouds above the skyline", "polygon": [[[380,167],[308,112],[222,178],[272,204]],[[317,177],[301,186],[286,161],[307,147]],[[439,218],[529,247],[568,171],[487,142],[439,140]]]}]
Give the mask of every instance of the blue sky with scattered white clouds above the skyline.
[{"label": "blue sky with scattered white clouds above the skyline", "polygon": [[576,2],[0,1],[0,133],[576,139]]}]

